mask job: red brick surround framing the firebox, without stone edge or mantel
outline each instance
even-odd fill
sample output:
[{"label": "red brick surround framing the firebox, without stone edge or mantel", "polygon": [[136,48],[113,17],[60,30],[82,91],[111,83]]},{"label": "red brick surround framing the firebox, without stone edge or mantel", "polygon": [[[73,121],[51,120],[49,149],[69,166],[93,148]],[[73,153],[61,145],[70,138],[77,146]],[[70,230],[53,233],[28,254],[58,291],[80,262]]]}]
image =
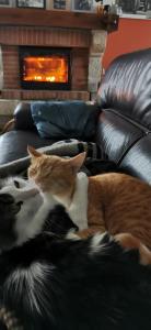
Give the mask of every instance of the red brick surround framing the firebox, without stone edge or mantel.
[{"label": "red brick surround framing the firebox, without stone edge or mantel", "polygon": [[[4,44],[9,40],[9,45]],[[4,99],[47,99],[47,98],[84,98],[89,99],[88,68],[90,33],[80,30],[4,26],[0,30],[3,62]],[[60,46],[71,47],[71,90],[24,90],[20,87],[19,46]]]}]

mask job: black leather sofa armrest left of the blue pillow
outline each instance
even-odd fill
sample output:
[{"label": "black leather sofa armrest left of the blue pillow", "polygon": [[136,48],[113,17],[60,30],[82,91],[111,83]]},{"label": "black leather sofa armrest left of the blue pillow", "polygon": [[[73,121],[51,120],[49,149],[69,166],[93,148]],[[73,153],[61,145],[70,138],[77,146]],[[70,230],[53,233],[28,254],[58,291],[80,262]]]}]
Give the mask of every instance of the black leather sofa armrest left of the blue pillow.
[{"label": "black leather sofa armrest left of the blue pillow", "polygon": [[25,131],[37,131],[31,114],[31,103],[20,102],[14,109],[14,129]]}]

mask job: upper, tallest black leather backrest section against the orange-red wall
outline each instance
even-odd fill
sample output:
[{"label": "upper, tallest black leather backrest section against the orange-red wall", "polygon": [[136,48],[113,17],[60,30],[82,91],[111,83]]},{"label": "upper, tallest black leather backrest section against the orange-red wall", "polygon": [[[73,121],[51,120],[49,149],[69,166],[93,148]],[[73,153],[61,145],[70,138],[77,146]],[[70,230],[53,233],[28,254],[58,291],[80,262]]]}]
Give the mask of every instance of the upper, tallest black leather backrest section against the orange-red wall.
[{"label": "upper, tallest black leather backrest section against the orange-red wall", "polygon": [[151,48],[117,57],[106,70],[97,102],[151,131]]}]

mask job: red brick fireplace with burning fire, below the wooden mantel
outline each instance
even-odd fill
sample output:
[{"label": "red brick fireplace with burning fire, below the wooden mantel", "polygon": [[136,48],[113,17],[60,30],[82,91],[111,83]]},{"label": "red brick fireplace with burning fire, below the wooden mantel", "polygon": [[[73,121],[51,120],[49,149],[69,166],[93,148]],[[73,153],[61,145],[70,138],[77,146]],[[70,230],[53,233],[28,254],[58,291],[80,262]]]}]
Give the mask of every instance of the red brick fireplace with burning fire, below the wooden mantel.
[{"label": "red brick fireplace with burning fire, below the wooden mantel", "polygon": [[[91,30],[9,25],[0,28],[1,99],[90,100],[91,86],[96,85],[101,77],[100,57],[106,40],[106,32],[97,33],[101,35],[96,37],[96,42],[101,40],[102,45],[97,55],[98,66],[94,63],[94,56],[91,56]],[[96,52],[97,50],[93,51]],[[92,75],[89,69],[91,66],[94,67]],[[90,86],[92,79],[95,84]]]}]

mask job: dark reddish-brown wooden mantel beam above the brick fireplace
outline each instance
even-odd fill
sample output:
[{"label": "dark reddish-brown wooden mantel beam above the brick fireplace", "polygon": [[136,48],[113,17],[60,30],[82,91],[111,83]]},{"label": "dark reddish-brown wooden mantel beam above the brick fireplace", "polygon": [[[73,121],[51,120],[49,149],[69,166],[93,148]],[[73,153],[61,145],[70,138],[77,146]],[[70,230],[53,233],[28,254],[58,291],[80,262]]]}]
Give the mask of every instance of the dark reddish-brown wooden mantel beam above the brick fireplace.
[{"label": "dark reddish-brown wooden mantel beam above the brick fireplace", "polygon": [[0,26],[49,26],[86,30],[117,30],[117,15],[102,15],[62,10],[0,8]]}]

